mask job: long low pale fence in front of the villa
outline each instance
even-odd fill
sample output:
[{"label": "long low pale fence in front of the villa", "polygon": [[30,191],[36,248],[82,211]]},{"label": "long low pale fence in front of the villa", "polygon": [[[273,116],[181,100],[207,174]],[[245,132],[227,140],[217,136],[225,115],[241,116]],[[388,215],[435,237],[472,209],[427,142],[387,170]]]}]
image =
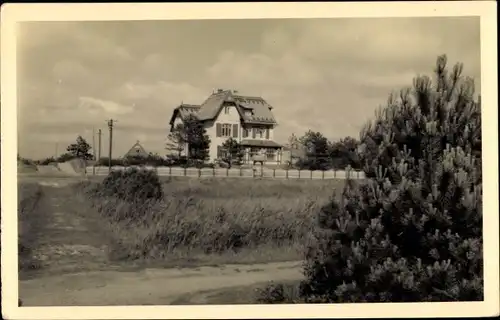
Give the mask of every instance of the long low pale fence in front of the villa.
[{"label": "long low pale fence in front of the villa", "polygon": [[[111,170],[123,170],[126,167],[112,167]],[[271,178],[271,179],[364,179],[362,171],[355,170],[326,170],[311,171],[297,169],[269,169],[269,168],[182,168],[182,167],[145,167],[155,170],[159,176],[166,177],[221,177],[221,178]],[[105,176],[109,173],[108,167],[87,167],[87,175]]]}]

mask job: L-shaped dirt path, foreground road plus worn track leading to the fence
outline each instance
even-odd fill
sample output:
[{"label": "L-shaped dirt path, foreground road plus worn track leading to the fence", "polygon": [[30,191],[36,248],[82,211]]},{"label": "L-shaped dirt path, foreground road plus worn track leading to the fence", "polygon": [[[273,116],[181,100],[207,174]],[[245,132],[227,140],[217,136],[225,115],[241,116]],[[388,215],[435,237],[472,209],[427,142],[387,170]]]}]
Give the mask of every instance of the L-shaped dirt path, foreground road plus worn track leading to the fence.
[{"label": "L-shaped dirt path, foreground road plus worn track leading to the fence", "polygon": [[183,304],[196,304],[211,290],[302,278],[300,262],[132,271],[113,265],[111,239],[97,213],[78,203],[74,181],[38,182],[45,188],[37,214],[45,216],[34,255],[42,268],[21,277],[23,306],[165,305],[190,295]]}]

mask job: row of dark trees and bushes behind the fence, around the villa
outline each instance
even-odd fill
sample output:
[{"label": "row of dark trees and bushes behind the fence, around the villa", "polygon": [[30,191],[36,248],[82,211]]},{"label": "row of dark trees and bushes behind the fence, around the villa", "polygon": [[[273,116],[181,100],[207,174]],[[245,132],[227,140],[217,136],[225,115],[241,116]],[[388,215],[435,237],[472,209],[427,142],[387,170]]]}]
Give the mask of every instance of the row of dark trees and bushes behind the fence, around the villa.
[{"label": "row of dark trees and bushes behind the fence, around the villa", "polygon": [[[183,123],[173,127],[167,136],[165,156],[157,153],[149,153],[147,156],[131,155],[121,159],[111,159],[112,166],[129,165],[152,165],[152,166],[207,166],[205,160],[209,155],[210,137],[206,129],[194,116],[189,116]],[[188,146],[187,148],[185,146]],[[360,169],[360,160],[357,154],[359,141],[352,137],[346,137],[338,141],[328,140],[321,132],[309,130],[301,137],[292,135],[286,145],[291,154],[291,161],[283,163],[289,168],[301,170],[330,170],[345,169],[350,166]],[[225,167],[238,166],[243,163],[244,148],[233,138],[228,138],[221,146],[222,156],[218,164]],[[78,136],[75,143],[66,148],[66,152],[58,157],[48,157],[42,160],[23,159],[18,160],[25,164],[48,165],[55,162],[66,162],[71,159],[96,160],[91,153],[92,147],[82,137]],[[108,166],[109,159],[101,157],[97,165]],[[210,165],[212,166],[212,165]]]}]

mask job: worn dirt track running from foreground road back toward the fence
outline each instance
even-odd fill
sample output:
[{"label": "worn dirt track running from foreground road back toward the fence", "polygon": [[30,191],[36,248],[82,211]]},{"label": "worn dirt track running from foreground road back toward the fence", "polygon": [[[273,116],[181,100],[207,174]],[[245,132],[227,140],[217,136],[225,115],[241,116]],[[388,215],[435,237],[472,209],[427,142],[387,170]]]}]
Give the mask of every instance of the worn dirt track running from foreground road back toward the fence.
[{"label": "worn dirt track running from foreground road back toward the fence", "polygon": [[40,262],[40,272],[74,272],[107,262],[108,237],[99,225],[99,217],[85,212],[75,200],[74,190],[69,187],[73,182],[39,182],[44,190],[35,214],[43,215],[40,221],[44,223],[37,226],[33,258]]}]

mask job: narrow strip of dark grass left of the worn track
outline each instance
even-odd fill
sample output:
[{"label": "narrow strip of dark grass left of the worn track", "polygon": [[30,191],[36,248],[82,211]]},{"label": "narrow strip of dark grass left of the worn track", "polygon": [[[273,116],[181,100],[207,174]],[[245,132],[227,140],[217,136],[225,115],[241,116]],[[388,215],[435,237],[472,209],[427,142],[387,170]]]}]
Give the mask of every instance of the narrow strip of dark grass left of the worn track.
[{"label": "narrow strip of dark grass left of the worn track", "polygon": [[38,217],[37,204],[42,197],[42,188],[35,183],[18,185],[18,253],[19,269],[38,269],[39,264],[32,256],[33,246],[37,237]]}]

